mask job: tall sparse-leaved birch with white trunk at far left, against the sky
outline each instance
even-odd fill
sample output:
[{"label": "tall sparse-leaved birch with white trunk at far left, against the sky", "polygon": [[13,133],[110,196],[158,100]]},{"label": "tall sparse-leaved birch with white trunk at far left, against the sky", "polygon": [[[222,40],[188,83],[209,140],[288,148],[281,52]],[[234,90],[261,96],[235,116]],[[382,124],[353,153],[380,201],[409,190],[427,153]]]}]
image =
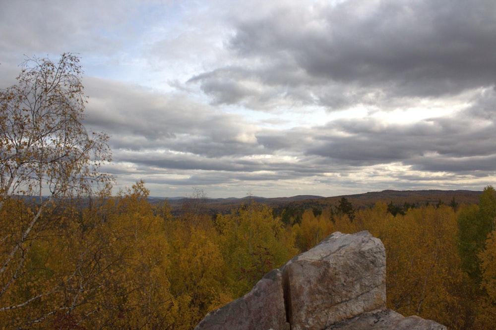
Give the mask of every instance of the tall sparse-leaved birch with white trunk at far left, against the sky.
[{"label": "tall sparse-leaved birch with white trunk at far left, against the sky", "polygon": [[81,77],[76,55],[28,58],[17,83],[0,91],[0,314],[37,304],[64,285],[65,278],[32,280],[53,279],[36,260],[53,238],[57,206],[111,180],[99,172],[110,161],[108,137],[83,125]]}]

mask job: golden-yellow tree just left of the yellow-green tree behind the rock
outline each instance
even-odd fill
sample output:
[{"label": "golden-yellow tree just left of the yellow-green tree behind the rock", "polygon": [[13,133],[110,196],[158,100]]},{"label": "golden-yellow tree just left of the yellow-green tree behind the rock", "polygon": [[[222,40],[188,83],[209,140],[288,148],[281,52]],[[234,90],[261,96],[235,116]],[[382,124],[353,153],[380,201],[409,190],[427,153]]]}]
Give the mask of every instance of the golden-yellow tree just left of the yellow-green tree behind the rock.
[{"label": "golden-yellow tree just left of the yellow-green tree behind the rock", "polygon": [[169,280],[180,314],[174,329],[193,328],[208,312],[231,301],[223,282],[224,259],[218,233],[206,223],[169,221],[167,237],[171,250]]}]

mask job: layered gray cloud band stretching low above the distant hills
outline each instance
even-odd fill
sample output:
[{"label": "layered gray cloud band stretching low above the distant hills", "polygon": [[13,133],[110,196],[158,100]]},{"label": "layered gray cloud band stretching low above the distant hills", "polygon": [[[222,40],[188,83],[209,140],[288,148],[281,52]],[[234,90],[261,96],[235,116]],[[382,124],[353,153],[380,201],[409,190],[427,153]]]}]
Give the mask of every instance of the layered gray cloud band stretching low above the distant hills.
[{"label": "layered gray cloud band stretching low above the distant hills", "polygon": [[[411,123],[365,117],[307,128],[268,129],[218,113],[183,95],[154,94],[108,81],[93,81],[90,86],[89,92],[94,88],[99,94],[88,92],[92,100],[88,123],[110,129],[115,160],[133,164],[127,172],[115,170],[121,178],[134,177],[136,172],[155,173],[150,176],[152,183],[211,189],[247,181],[259,186],[265,181],[318,178],[318,184],[346,180],[351,187],[358,173],[366,171],[371,180],[380,178],[381,182],[387,173],[395,187],[409,180],[415,187],[433,188],[432,176],[426,173],[443,172],[445,179],[454,180],[495,172],[495,122],[490,105],[496,93],[492,89],[449,117]],[[101,104],[107,108],[97,107]],[[121,117],[109,119],[105,109],[119,109]],[[414,174],[381,169],[391,163],[410,168]],[[326,177],[323,173],[334,174]]]}]

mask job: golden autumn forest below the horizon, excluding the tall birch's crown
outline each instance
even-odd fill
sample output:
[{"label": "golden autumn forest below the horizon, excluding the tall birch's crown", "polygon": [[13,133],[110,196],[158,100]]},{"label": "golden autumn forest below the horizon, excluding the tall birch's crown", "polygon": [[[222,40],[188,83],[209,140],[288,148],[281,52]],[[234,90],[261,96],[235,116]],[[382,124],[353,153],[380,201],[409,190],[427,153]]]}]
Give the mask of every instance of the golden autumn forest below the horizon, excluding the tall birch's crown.
[{"label": "golden autumn forest below the horizon, excluding the tall birch's crown", "polygon": [[[382,202],[308,209],[284,223],[247,200],[214,217],[201,199],[173,216],[150,204],[143,182],[119,196],[54,204],[36,236],[3,263],[0,323],[7,329],[191,329],[247,293],[266,272],[334,231],[369,230],[385,245],[387,307],[450,329],[491,329],[496,315],[496,192],[478,204],[422,205],[396,213]],[[2,262],[36,211],[1,209]]]}]

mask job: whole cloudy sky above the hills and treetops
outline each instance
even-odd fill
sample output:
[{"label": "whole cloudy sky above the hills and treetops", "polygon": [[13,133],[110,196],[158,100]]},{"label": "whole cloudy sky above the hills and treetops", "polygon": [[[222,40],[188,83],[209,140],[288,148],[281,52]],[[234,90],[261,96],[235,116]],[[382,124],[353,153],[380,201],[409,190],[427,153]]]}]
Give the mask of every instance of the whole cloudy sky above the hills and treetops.
[{"label": "whole cloudy sky above the hills and treetops", "polygon": [[338,196],[496,179],[494,0],[0,0],[0,88],[81,57],[115,192]]}]

